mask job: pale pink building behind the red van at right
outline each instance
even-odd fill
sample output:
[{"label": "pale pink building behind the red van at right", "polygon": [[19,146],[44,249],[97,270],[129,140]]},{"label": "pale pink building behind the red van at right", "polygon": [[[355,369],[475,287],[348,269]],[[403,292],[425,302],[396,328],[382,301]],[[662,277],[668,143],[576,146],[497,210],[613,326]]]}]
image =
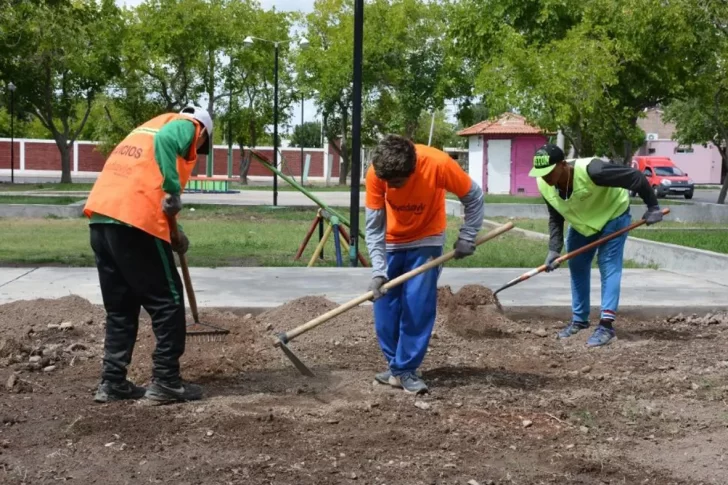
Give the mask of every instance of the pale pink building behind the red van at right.
[{"label": "pale pink building behind the red van at right", "polygon": [[715,145],[680,145],[672,139],[675,125],[662,121],[662,110],[652,108],[645,115],[637,125],[644,130],[647,139],[635,155],[667,157],[696,184],[721,183],[723,163]]}]

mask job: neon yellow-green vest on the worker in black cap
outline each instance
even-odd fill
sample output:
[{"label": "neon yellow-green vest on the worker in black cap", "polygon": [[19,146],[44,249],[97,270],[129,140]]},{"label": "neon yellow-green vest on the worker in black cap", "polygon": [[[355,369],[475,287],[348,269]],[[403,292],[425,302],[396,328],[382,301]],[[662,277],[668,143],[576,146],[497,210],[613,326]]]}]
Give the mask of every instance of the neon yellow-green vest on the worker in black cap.
[{"label": "neon yellow-green vest on the worker in black cap", "polygon": [[[601,231],[607,222],[620,216],[629,207],[627,189],[596,185],[586,171],[593,158],[578,158],[574,166],[574,191],[567,200],[556,187],[539,177],[538,190],[577,232],[589,237]],[[571,165],[571,163],[570,163]]]}]

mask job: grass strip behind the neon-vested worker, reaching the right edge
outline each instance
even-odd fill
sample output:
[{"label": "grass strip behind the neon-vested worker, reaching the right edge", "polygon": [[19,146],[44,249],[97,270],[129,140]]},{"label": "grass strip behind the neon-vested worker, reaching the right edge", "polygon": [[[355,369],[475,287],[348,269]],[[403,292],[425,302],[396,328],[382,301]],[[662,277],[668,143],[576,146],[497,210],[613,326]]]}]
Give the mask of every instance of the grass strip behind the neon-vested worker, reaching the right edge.
[{"label": "grass strip behind the neon-vested worker, reaching the right edge", "polygon": [[[641,216],[640,213],[638,217]],[[670,221],[669,217],[668,214],[665,220],[654,226],[642,225],[630,231],[630,234],[642,239],[728,254],[728,227],[725,224],[674,222]],[[504,223],[510,219],[494,217],[492,220]],[[634,215],[632,220],[637,220]],[[548,220],[546,219],[514,219],[512,222],[521,229],[548,233]]]}]

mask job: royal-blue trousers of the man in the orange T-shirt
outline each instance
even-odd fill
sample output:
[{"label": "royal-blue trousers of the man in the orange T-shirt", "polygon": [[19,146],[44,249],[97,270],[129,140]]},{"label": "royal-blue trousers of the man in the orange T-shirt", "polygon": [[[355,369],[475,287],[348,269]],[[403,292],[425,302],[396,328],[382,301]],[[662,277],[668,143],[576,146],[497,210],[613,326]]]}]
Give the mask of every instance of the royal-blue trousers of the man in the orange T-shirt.
[{"label": "royal-blue trousers of the man in the orange T-shirt", "polygon": [[[390,280],[442,255],[441,246],[387,253]],[[374,302],[374,328],[389,370],[399,376],[422,364],[430,343],[437,312],[437,280],[442,267],[432,268]]]}]

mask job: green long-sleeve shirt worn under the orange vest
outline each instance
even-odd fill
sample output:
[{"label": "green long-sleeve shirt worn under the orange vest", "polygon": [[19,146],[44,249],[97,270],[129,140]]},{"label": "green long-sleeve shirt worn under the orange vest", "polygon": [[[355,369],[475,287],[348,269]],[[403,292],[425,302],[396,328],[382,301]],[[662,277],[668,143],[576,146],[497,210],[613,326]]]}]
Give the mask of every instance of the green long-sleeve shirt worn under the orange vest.
[{"label": "green long-sleeve shirt worn under the orange vest", "polygon": [[[154,159],[164,178],[162,190],[168,194],[179,194],[182,187],[177,172],[177,156],[186,157],[195,138],[195,125],[188,120],[175,120],[164,125],[154,135]],[[123,224],[103,214],[92,214],[90,224]]]}]

